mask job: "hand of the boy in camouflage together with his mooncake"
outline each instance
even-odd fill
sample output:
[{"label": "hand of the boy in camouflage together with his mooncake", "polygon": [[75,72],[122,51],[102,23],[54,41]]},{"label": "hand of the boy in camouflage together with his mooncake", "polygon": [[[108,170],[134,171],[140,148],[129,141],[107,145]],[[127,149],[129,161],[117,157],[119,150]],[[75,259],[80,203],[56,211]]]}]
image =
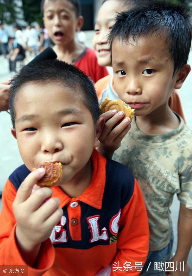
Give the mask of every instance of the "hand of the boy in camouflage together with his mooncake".
[{"label": "hand of the boy in camouflage together with his mooncake", "polygon": [[113,153],[121,145],[122,139],[131,128],[134,109],[131,109],[122,100],[111,101],[105,98],[100,105],[101,117],[105,125],[99,137],[101,142],[98,151],[105,157],[112,158]]}]

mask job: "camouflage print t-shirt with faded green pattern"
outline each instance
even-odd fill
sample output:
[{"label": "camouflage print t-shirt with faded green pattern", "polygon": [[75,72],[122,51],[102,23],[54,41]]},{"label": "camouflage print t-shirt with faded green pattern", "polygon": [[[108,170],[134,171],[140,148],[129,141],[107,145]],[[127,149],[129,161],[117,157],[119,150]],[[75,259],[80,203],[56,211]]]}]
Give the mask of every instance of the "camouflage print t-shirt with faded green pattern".
[{"label": "camouflage print t-shirt with faded green pattern", "polygon": [[[179,116],[179,115],[178,115]],[[170,242],[169,207],[177,193],[192,209],[192,129],[182,118],[175,130],[146,135],[136,120],[113,159],[129,168],[143,192],[149,218],[149,250],[161,250]]]}]

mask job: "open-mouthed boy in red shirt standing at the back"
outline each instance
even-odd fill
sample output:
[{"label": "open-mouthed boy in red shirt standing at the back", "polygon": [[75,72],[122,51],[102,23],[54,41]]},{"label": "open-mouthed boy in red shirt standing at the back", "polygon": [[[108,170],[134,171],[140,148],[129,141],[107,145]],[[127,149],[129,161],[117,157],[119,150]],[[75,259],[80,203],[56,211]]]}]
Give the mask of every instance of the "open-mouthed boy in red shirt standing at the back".
[{"label": "open-mouthed boy in red shirt standing at the back", "polygon": [[108,71],[99,66],[94,50],[75,40],[76,30],[83,25],[79,0],[42,0],[41,9],[58,59],[73,64],[94,83],[107,76]]}]

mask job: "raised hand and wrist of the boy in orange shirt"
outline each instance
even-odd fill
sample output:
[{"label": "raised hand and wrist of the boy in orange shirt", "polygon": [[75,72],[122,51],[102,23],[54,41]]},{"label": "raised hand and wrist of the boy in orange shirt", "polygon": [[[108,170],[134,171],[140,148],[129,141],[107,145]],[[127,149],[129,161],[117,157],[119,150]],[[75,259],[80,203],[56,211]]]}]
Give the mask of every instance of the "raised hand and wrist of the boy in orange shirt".
[{"label": "raised hand and wrist of the boy in orange shirt", "polygon": [[41,243],[49,238],[53,227],[63,215],[63,210],[58,208],[58,198],[50,198],[42,204],[52,196],[50,188],[40,188],[31,194],[35,183],[44,175],[44,168],[32,171],[21,183],[13,202],[17,221],[16,242],[23,259],[31,266],[38,256]]}]

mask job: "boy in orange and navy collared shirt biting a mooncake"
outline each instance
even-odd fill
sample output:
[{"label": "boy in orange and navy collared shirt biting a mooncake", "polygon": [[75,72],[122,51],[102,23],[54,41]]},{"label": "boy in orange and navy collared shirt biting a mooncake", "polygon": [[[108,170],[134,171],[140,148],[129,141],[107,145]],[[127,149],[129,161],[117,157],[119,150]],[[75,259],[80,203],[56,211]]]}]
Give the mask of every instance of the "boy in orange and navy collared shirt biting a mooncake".
[{"label": "boy in orange and navy collared shirt biting a mooncake", "polygon": [[[107,266],[121,276],[118,264],[144,265],[145,203],[129,170],[95,149],[104,118],[92,81],[63,61],[29,64],[11,84],[9,110],[25,165],[3,190],[1,265],[27,264],[29,276],[94,276]],[[61,162],[61,180],[31,194],[45,174],[32,169],[44,161]]]}]

